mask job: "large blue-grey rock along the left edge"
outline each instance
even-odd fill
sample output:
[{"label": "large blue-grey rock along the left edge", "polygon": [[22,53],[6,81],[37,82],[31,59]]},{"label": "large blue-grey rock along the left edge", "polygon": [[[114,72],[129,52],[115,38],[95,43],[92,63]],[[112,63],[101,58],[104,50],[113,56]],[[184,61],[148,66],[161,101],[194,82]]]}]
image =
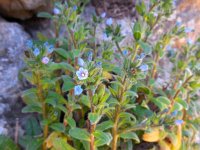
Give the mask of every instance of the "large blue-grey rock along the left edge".
[{"label": "large blue-grey rock along the left edge", "polygon": [[21,116],[22,85],[18,73],[23,66],[25,42],[30,37],[21,25],[0,20],[0,134],[12,135],[15,119]]}]

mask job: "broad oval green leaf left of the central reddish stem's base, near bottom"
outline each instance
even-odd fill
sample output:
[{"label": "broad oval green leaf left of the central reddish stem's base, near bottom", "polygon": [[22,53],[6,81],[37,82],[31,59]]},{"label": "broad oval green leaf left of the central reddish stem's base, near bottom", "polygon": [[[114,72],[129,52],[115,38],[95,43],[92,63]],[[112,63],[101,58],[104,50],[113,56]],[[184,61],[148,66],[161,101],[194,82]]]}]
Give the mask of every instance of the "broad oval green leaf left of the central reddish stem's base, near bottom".
[{"label": "broad oval green leaf left of the central reddish stem's base, near bottom", "polygon": [[73,128],[69,130],[69,135],[78,140],[90,141],[90,134],[87,130]]}]

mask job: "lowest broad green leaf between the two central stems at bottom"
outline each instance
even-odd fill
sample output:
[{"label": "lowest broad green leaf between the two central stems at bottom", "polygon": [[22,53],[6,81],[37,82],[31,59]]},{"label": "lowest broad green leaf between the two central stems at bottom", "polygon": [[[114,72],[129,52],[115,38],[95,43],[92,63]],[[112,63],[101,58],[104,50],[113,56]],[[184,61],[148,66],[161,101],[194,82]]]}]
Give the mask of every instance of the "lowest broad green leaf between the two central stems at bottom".
[{"label": "lowest broad green leaf between the two central stems at bottom", "polygon": [[94,137],[95,137],[95,146],[99,147],[99,146],[103,146],[103,145],[109,145],[111,140],[112,140],[112,136],[110,133],[105,133],[99,130],[96,130],[94,132]]}]

